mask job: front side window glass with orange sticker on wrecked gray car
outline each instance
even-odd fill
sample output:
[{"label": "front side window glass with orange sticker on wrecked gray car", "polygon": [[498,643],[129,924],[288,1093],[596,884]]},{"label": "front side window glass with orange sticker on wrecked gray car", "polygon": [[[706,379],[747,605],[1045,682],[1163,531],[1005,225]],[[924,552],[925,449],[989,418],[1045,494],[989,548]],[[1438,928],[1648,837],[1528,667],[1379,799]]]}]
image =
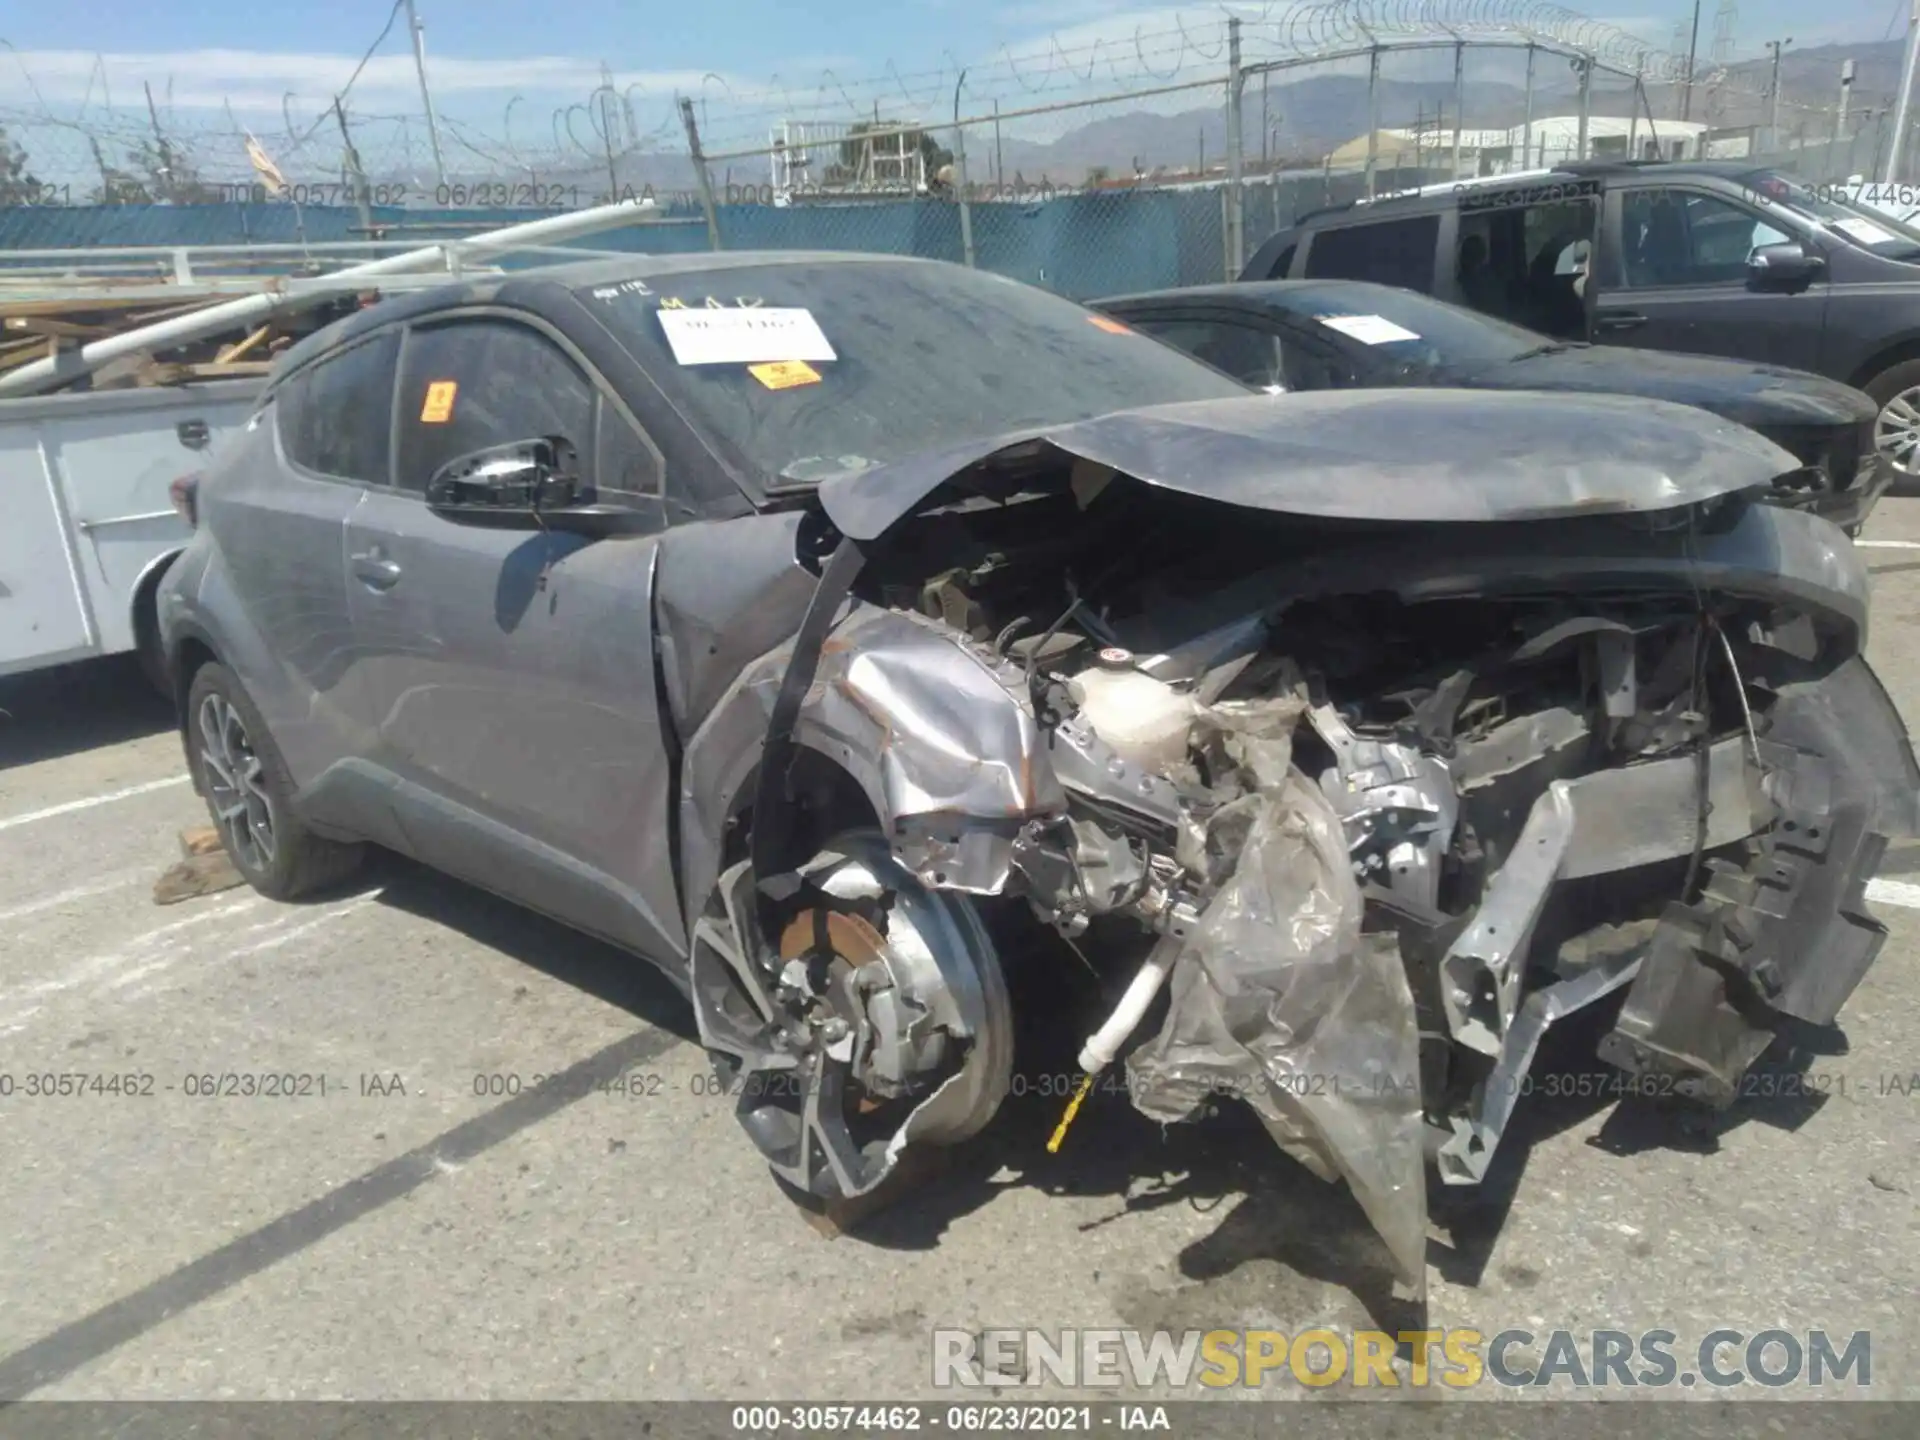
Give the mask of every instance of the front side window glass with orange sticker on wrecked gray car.
[{"label": "front side window glass with orange sticker on wrecked gray car", "polygon": [[422,324],[399,374],[397,484],[424,492],[447,461],[559,436],[591,482],[595,390],[540,330],[503,319]]}]

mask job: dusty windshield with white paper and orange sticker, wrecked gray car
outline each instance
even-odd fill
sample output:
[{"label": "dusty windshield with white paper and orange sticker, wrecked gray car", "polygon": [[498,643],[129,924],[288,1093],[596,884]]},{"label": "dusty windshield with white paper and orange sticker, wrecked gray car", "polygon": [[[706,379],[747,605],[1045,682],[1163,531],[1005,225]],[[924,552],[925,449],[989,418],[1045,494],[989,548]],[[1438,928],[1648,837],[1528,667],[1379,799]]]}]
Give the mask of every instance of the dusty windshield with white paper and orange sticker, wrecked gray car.
[{"label": "dusty windshield with white paper and orange sticker, wrecked gray car", "polygon": [[958,265],[772,263],[580,296],[687,422],[770,490],[977,436],[1248,394],[1117,321]]}]

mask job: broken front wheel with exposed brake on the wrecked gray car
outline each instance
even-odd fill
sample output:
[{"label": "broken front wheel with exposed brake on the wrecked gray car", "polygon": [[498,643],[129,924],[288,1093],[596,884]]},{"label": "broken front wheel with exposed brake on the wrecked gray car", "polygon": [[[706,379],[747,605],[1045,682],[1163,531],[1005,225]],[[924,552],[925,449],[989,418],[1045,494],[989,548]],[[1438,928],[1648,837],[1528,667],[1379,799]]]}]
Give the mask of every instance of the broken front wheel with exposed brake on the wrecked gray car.
[{"label": "broken front wheel with exposed brake on the wrecked gray car", "polygon": [[1012,1006],[970,900],[924,889],[876,831],[803,870],[778,943],[753,868],[693,929],[693,1010],[714,1085],[774,1171],[824,1198],[877,1187],[910,1144],[975,1135],[1012,1083]]}]

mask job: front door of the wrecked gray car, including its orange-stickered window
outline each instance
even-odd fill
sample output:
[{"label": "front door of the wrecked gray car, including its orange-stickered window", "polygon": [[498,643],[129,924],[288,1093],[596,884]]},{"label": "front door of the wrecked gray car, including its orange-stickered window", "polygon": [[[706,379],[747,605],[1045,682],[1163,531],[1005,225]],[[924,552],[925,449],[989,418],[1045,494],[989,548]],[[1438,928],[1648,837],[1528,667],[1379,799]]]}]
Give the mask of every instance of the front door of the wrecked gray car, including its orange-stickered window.
[{"label": "front door of the wrecked gray car, including its orange-stickered window", "polygon": [[[426,509],[428,478],[561,436],[647,534],[490,530]],[[662,465],[555,330],[509,311],[417,323],[399,357],[394,484],[348,524],[359,668],[405,849],[655,958],[680,954],[670,764],[653,657]]]}]

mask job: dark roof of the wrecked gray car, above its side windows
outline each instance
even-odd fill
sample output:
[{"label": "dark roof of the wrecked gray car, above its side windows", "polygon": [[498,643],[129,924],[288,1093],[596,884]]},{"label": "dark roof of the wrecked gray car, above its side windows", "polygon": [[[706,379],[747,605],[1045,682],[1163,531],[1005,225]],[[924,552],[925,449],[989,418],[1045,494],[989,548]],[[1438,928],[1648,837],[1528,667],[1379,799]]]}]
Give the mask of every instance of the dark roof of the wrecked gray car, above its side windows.
[{"label": "dark roof of the wrecked gray car, above its side windows", "polygon": [[[524,271],[488,271],[467,278],[449,278],[447,284],[432,290],[382,300],[363,311],[355,311],[332,324],[315,330],[300,344],[280,355],[269,390],[278,386],[288,374],[305,367],[319,355],[336,349],[359,336],[394,324],[434,315],[453,305],[488,303],[503,290],[551,288],[559,292],[586,290],[622,280],[657,280],[674,275],[710,275],[716,271],[739,271],[766,265],[947,265],[948,261],[924,259],[918,255],[881,255],[847,250],[699,250],[678,255],[614,255],[568,261],[563,265],[538,265]],[[369,278],[367,290],[378,290],[380,280]]]}]

